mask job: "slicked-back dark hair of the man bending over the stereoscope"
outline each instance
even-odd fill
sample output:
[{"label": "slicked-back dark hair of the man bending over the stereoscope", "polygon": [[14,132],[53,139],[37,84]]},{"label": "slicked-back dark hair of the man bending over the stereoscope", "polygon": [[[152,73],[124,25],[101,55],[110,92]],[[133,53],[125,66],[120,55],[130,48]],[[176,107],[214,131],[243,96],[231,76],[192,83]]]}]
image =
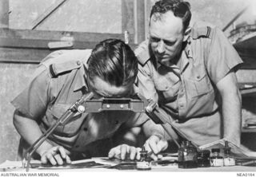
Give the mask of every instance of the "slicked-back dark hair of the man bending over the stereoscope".
[{"label": "slicked-back dark hair of the man bending over the stereoscope", "polygon": [[116,87],[133,84],[138,73],[138,59],[123,41],[106,39],[93,49],[88,61],[90,81],[100,77]]}]

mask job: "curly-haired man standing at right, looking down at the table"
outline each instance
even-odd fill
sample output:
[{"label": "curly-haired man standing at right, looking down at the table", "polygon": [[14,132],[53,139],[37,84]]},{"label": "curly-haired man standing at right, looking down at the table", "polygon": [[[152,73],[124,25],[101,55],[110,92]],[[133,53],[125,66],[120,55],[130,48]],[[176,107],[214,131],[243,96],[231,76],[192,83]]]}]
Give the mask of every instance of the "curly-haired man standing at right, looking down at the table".
[{"label": "curly-haired man standing at right, looking down at the table", "polygon": [[[242,60],[221,30],[206,22],[190,27],[190,18],[189,2],[154,4],[150,39],[135,51],[138,88],[194,144],[226,138],[240,145],[241,95],[235,72]],[[170,132],[179,139],[171,127]],[[146,149],[158,154],[166,147],[154,140],[146,142]]]}]

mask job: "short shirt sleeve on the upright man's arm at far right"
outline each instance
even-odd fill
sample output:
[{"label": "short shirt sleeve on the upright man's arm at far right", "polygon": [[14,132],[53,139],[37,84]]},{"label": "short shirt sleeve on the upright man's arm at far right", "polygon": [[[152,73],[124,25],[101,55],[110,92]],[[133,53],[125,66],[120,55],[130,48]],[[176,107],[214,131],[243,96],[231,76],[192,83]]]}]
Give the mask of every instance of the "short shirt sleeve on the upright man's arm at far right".
[{"label": "short shirt sleeve on the upright man's arm at far right", "polygon": [[231,69],[242,63],[237,51],[218,28],[213,28],[213,39],[209,46],[206,69],[214,84],[217,84]]}]

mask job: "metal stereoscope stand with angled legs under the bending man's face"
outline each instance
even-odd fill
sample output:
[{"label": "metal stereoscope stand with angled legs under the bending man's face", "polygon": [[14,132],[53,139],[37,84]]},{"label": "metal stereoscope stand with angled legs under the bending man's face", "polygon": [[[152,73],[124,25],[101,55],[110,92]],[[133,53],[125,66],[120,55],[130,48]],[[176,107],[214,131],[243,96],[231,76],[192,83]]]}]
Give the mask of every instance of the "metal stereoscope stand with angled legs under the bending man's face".
[{"label": "metal stereoscope stand with angled legs under the bending man's face", "polygon": [[[66,121],[70,120],[75,113],[77,112],[102,112],[102,111],[132,111],[132,112],[144,112],[146,113],[151,120],[154,121],[155,124],[161,124],[162,128],[165,129],[165,131],[168,133],[168,135],[174,140],[174,143],[177,144],[178,148],[180,145],[178,142],[174,139],[174,137],[170,133],[170,129],[167,127],[167,124],[170,124],[174,130],[176,130],[184,139],[188,140],[186,138],[186,135],[183,134],[181,131],[178,130],[172,124],[168,118],[168,116],[165,115],[165,112],[162,111],[162,109],[158,108],[158,105],[150,100],[146,100],[141,95],[137,95],[135,99],[127,99],[127,98],[102,98],[98,100],[91,100],[93,98],[94,94],[90,92],[86,96],[82,96],[80,100],[78,100],[75,104],[73,104],[50,128],[43,133],[42,136],[38,138],[28,148],[25,152],[25,155],[22,160],[22,167],[26,167],[26,171],[29,171],[30,169],[30,160],[31,156],[34,154],[34,151],[36,151],[42,143],[51,135],[52,132],[54,132],[55,128],[58,127],[59,124],[65,124]],[[195,147],[197,147],[196,144],[194,144]]]}]

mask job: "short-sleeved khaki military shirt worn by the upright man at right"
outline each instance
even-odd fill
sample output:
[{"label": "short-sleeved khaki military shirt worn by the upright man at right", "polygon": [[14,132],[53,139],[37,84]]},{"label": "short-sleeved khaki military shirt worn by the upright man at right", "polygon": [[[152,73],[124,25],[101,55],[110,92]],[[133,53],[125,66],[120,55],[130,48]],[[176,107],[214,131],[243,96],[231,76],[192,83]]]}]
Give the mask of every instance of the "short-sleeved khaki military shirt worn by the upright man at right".
[{"label": "short-sleeved khaki military shirt worn by the upright man at right", "polygon": [[159,63],[148,41],[142,42],[135,53],[141,64],[138,88],[142,95],[157,101],[189,137],[198,137],[198,144],[203,144],[202,134],[218,140],[221,128],[211,124],[220,120],[215,85],[242,63],[222,31],[204,22],[195,23],[177,65]]}]

